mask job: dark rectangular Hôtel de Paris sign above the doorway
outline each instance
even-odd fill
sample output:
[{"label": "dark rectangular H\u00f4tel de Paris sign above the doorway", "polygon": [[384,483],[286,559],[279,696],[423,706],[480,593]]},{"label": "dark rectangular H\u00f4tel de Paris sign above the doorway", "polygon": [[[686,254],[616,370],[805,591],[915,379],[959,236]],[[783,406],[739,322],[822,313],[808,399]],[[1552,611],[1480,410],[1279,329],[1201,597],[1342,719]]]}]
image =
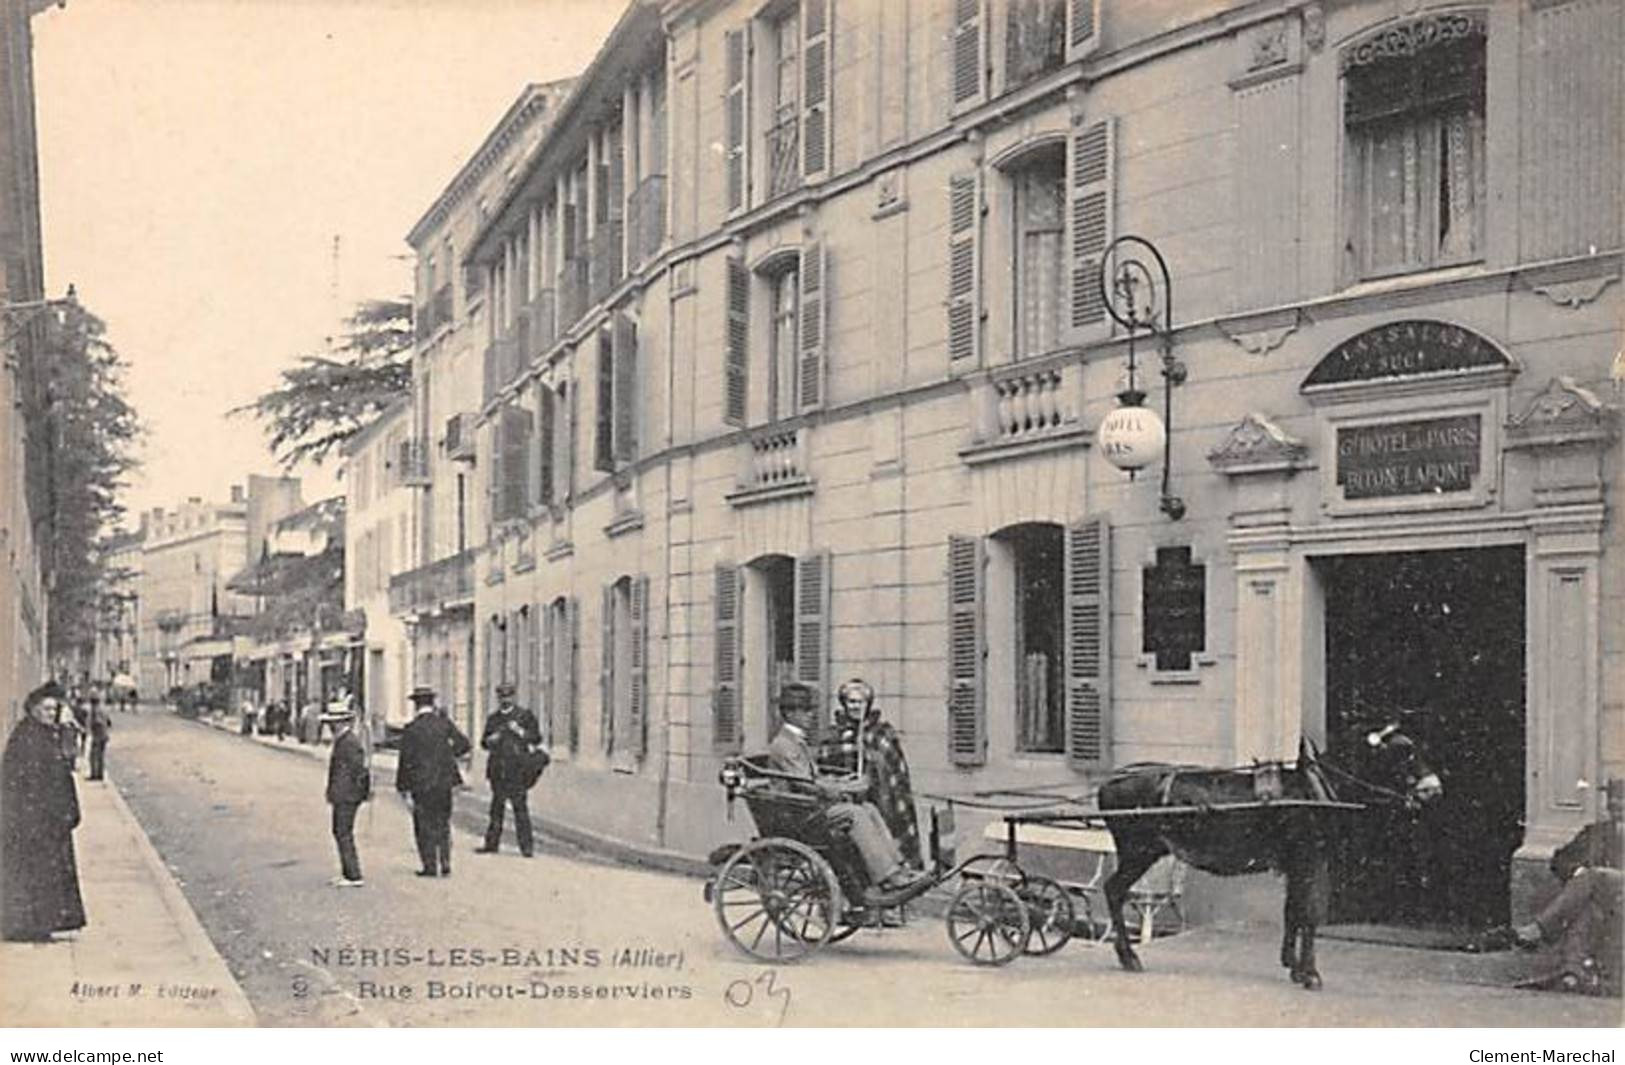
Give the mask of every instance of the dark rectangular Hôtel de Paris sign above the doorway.
[{"label": "dark rectangular H\u00f4tel de Paris sign above the doorway", "polygon": [[1467,491],[1479,475],[1479,415],[1337,429],[1344,499]]}]

